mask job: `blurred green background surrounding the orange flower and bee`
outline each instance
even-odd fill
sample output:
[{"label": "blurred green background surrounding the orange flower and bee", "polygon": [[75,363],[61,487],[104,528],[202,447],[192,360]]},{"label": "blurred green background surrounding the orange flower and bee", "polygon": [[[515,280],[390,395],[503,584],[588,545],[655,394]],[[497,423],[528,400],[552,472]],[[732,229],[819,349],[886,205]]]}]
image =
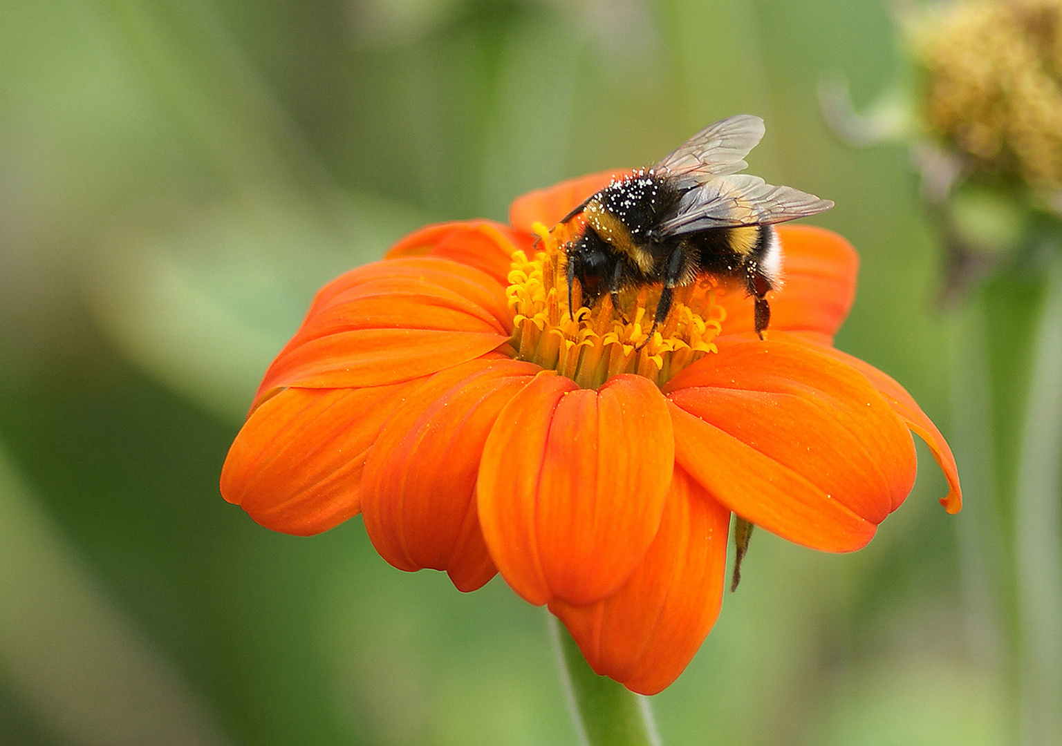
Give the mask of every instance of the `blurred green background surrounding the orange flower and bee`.
[{"label": "blurred green background surrounding the orange flower and bee", "polygon": [[[752,112],[862,256],[838,345],[947,432],[933,237],[816,83],[902,76],[883,2],[0,2],[0,743],[573,744],[545,613],[270,533],[218,475],[313,291]],[[928,452],[857,554],[757,534],[664,742],[998,744],[1012,681]],[[966,579],[963,579],[963,572]],[[964,590],[965,589],[965,590]],[[972,610],[973,609],[973,610]]]}]

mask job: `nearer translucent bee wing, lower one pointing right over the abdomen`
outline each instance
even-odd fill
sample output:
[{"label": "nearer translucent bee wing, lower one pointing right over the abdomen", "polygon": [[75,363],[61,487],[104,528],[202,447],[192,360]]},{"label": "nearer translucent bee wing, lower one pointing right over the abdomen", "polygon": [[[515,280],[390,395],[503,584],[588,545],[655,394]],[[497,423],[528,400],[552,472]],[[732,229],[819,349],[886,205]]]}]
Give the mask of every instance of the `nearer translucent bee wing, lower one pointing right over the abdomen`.
[{"label": "nearer translucent bee wing, lower one pointing right over the abdomen", "polygon": [[681,236],[709,228],[784,223],[834,206],[829,199],[792,187],[775,187],[759,176],[735,174],[714,178],[686,192],[674,214],[656,226],[658,236]]}]

